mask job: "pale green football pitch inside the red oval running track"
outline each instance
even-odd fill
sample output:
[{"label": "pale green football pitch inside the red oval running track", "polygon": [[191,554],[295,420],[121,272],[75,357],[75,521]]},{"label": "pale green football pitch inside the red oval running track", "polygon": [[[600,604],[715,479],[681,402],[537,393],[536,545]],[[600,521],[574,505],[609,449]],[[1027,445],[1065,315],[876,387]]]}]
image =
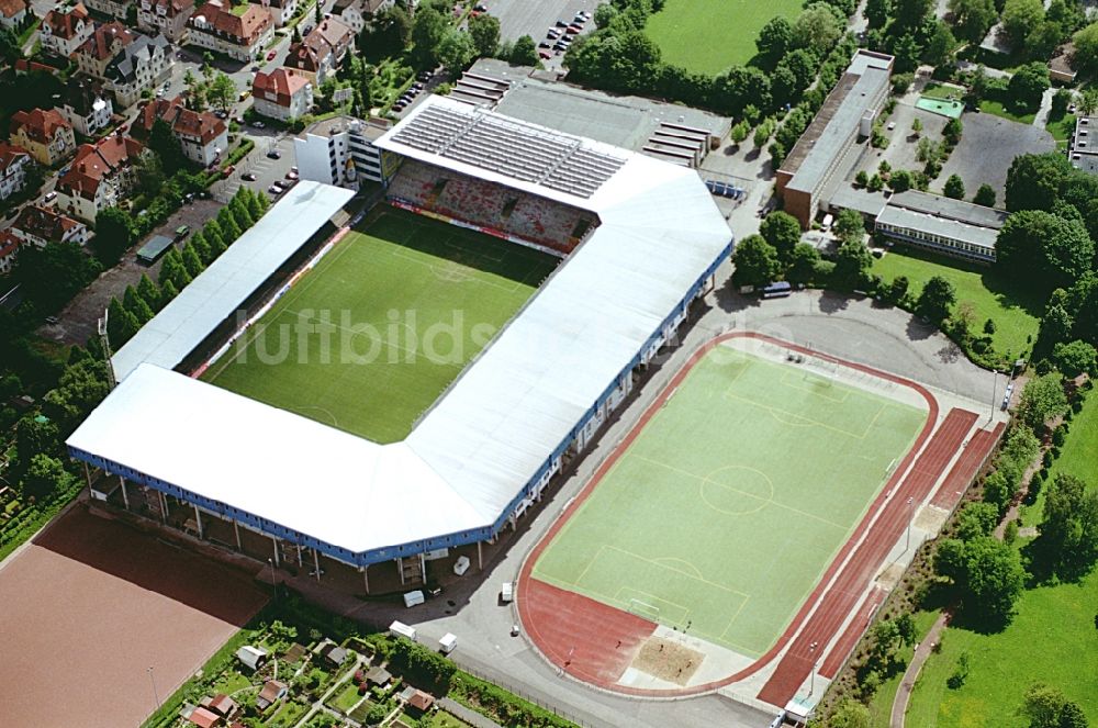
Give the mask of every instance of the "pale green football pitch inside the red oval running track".
[{"label": "pale green football pitch inside the red oval running track", "polygon": [[758,658],[925,421],[908,404],[719,346],[595,485],[534,575]]}]

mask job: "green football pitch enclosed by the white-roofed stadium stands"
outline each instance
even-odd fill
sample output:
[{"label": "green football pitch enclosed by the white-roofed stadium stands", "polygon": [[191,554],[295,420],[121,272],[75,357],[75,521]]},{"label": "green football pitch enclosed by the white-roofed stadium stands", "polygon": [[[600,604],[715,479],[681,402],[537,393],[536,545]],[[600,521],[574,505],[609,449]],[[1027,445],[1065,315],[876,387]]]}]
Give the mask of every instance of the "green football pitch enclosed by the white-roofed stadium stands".
[{"label": "green football pitch enclosed by the white-roofed stadium stands", "polygon": [[202,378],[397,441],[558,262],[386,210],[339,240]]}]

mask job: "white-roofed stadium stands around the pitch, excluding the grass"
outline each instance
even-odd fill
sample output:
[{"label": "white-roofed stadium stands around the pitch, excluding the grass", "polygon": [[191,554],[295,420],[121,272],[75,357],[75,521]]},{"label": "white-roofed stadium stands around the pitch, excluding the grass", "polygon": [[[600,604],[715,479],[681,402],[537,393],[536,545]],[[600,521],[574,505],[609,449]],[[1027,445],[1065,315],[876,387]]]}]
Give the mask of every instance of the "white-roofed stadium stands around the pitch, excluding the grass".
[{"label": "white-roofed stadium stands around the pitch, excluding the grass", "polygon": [[195,379],[339,245],[350,193],[302,182],[113,356],[117,387],[67,440],[125,507],[168,522],[182,504],[200,539],[276,565],[304,549],[317,579],[346,565],[368,593],[371,579],[373,592],[425,580],[440,551],[481,565],[481,545],[587,449],[732,248],[695,171],[490,110],[432,97],[377,145],[404,160],[393,204],[565,257],[406,439]]}]

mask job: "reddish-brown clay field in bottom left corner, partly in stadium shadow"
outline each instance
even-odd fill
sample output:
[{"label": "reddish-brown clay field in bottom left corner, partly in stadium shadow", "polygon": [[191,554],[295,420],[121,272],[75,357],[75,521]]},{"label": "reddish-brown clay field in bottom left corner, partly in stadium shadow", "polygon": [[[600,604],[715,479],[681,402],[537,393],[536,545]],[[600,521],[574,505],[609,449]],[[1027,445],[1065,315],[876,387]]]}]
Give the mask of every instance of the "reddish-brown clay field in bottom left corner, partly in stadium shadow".
[{"label": "reddish-brown clay field in bottom left corner, partly in stadium shadow", "polygon": [[266,600],[77,506],[0,567],[0,725],[137,726]]}]

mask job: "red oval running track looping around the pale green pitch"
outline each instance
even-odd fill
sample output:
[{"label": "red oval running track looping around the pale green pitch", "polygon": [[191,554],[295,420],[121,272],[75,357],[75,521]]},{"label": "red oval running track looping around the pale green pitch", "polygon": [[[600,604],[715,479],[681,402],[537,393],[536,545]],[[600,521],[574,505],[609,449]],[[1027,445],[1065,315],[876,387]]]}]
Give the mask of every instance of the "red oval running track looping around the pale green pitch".
[{"label": "red oval running track looping around the pale green pitch", "polygon": [[[567,654],[568,651],[574,646],[574,643],[579,641],[574,637],[579,635],[581,630],[581,628],[578,627],[578,625],[583,624],[584,619],[587,618],[589,616],[592,620],[601,619],[602,617],[600,616],[600,613],[602,612],[602,609],[612,607],[606,607],[605,605],[594,602],[593,600],[586,600],[586,604],[583,602],[576,602],[569,606],[568,618],[562,617],[561,613],[553,612],[551,609],[537,608],[537,605],[531,603],[536,600],[527,598],[527,596],[530,594],[537,596],[542,593],[539,580],[536,580],[533,576],[534,564],[540,558],[541,553],[552,541],[552,539],[556,538],[557,534],[560,533],[560,529],[564,526],[568,519],[572,517],[572,515],[576,512],[580,505],[587,499],[587,496],[591,495],[591,492],[597,486],[598,482],[603,479],[603,477],[605,477],[606,473],[614,467],[618,458],[621,457],[623,453],[625,453],[625,451],[629,448],[629,446],[637,438],[640,432],[645,428],[648,422],[666,403],[666,401],[679,388],[679,385],[682,384],[683,380],[690,373],[691,369],[693,369],[694,366],[698,361],[701,361],[702,358],[710,350],[713,350],[716,346],[733,338],[753,338],[768,341],[770,344],[785,347],[792,351],[798,351],[800,354],[814,356],[820,359],[825,359],[827,361],[840,363],[850,369],[872,374],[879,379],[895,382],[903,387],[908,387],[914,391],[918,392],[918,394],[922,396],[923,401],[926,401],[928,407],[927,421],[923,424],[922,429],[919,432],[919,435],[916,438],[915,444],[911,446],[911,449],[904,455],[896,470],[888,479],[888,483],[885,485],[884,489],[882,489],[881,493],[877,494],[877,497],[874,499],[873,503],[870,505],[870,509],[862,518],[862,520],[858,524],[856,528],[854,529],[854,533],[851,534],[850,539],[842,545],[842,547],[839,550],[839,553],[836,555],[836,558],[831,561],[827,571],[820,578],[820,581],[816,584],[816,587],[813,590],[813,593],[809,594],[808,597],[805,600],[805,603],[802,604],[800,609],[798,609],[796,616],[794,616],[793,620],[789,623],[789,626],[786,627],[785,631],[778,637],[774,646],[771,647],[771,649],[768,650],[766,653],[763,654],[759,660],[753,662],[751,665],[744,668],[743,670],[733,673],[722,680],[705,683],[702,685],[693,685],[686,688],[674,688],[674,690],[663,690],[663,691],[643,690],[637,687],[629,687],[625,685],[618,685],[616,684],[616,679],[614,680],[608,679],[609,674],[612,674],[608,671],[603,676],[590,675],[590,674],[581,675],[579,674],[579,671],[582,669],[583,665],[574,661],[571,664],[564,664],[567,660],[561,659],[561,656]],[[580,491],[579,495],[576,495],[573,502],[568,507],[564,508],[564,512],[560,515],[560,517],[558,517],[558,519],[553,522],[553,524],[549,527],[549,530],[546,533],[546,535],[530,550],[529,555],[527,555],[526,560],[523,562],[523,568],[518,574],[518,590],[517,590],[518,615],[519,619],[522,620],[523,625],[526,628],[527,635],[530,637],[530,640],[534,642],[535,647],[537,647],[537,649],[541,651],[542,656],[545,656],[552,664],[557,665],[559,669],[564,670],[570,674],[573,674],[576,677],[585,680],[586,682],[590,682],[600,687],[615,691],[618,693],[625,693],[628,695],[660,696],[660,697],[673,697],[673,696],[679,697],[685,695],[696,695],[701,693],[710,692],[719,687],[724,687],[725,685],[729,685],[731,683],[749,677],[759,670],[763,669],[775,657],[777,657],[777,654],[780,654],[782,650],[785,649],[786,645],[788,645],[789,640],[793,639],[793,636],[796,635],[797,631],[800,629],[802,625],[808,618],[808,614],[813,611],[813,608],[819,602],[820,597],[827,591],[827,585],[834,578],[836,573],[839,571],[840,565],[854,548],[854,545],[858,544],[858,541],[870,528],[877,513],[879,513],[882,508],[885,507],[886,502],[888,500],[888,493],[892,492],[897,486],[901,478],[901,474],[911,464],[911,461],[915,459],[916,455],[927,443],[927,440],[930,439],[930,435],[931,433],[933,433],[934,429],[934,424],[938,422],[938,413],[939,413],[938,401],[930,393],[930,391],[927,390],[921,384],[912,382],[911,380],[908,379],[904,379],[903,377],[897,377],[895,374],[890,374],[888,372],[881,371],[872,367],[867,367],[865,365],[856,363],[853,361],[847,361],[844,359],[839,359],[838,357],[825,355],[803,346],[789,344],[787,341],[783,341],[772,336],[766,336],[765,334],[758,334],[754,332],[732,332],[719,336],[717,338],[710,339],[705,345],[703,345],[697,351],[695,351],[694,355],[690,358],[690,360],[683,366],[683,368],[675,373],[675,376],[671,379],[671,381],[666,384],[666,387],[664,387],[663,391],[660,392],[660,394],[656,397],[656,400],[648,407],[648,410],[645,411],[638,423],[632,427],[632,429],[629,430],[629,433],[621,440],[621,443],[618,444],[618,446],[614,449],[614,451],[610,452],[610,455],[606,458],[606,460],[598,467],[598,469],[595,471],[594,475],[591,478],[591,480],[587,482],[584,489]],[[946,458],[946,461],[948,460],[949,458]],[[876,528],[876,526],[874,526],[874,528]],[[893,541],[895,541],[895,538],[893,538]],[[563,591],[563,590],[558,590],[558,591]],[[856,601],[858,596],[860,596],[860,594],[853,595],[853,601]],[[816,618],[818,618],[818,616],[814,617],[814,619]],[[586,630],[583,631],[584,634],[586,632]],[[598,671],[586,670],[585,672],[598,672]],[[806,672],[805,675],[807,674],[808,673]],[[784,704],[785,703],[783,702],[782,705]]]}]

